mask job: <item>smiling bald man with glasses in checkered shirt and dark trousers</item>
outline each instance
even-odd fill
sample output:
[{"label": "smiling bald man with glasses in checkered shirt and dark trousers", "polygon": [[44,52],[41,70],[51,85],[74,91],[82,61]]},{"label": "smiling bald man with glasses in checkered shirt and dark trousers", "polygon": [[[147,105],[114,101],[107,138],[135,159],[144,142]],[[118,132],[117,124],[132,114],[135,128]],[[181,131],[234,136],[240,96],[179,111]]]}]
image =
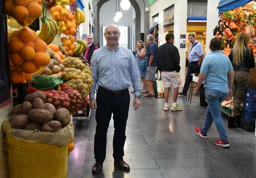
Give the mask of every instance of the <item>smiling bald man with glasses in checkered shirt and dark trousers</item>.
[{"label": "smiling bald man with glasses in checkered shirt and dark trousers", "polygon": [[[104,36],[107,42],[106,46],[95,50],[91,58],[93,85],[90,93],[90,106],[92,109],[96,109],[97,122],[94,137],[96,162],[92,167],[92,174],[101,172],[106,158],[106,133],[112,114],[115,128],[114,165],[125,171],[130,170],[129,165],[123,160],[125,129],[130,103],[128,91],[130,81],[134,88],[134,110],[140,106],[140,73],[133,53],[131,50],[119,46],[120,32],[115,24],[106,26]],[[99,88],[95,100],[96,84]]]}]

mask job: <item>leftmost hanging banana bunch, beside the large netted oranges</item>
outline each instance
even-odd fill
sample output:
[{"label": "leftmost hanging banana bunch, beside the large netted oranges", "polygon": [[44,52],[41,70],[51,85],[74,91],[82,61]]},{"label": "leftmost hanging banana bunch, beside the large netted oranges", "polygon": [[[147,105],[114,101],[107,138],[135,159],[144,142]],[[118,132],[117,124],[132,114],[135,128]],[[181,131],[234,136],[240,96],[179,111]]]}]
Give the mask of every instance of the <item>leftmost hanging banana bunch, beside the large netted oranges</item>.
[{"label": "leftmost hanging banana bunch, beside the large netted oranges", "polygon": [[45,17],[45,19],[41,18],[41,21],[41,31],[37,33],[39,33],[38,36],[40,39],[42,39],[48,45],[52,43],[53,39],[55,38],[58,32],[58,25],[54,20],[49,19],[48,17]]}]

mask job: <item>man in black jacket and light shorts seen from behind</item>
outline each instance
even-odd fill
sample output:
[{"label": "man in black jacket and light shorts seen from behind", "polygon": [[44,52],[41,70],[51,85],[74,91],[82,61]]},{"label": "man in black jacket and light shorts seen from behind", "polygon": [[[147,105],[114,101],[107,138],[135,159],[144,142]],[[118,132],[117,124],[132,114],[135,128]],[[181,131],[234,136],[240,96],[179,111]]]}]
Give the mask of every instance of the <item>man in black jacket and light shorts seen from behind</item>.
[{"label": "man in black jacket and light shorts seen from behind", "polygon": [[164,82],[164,111],[169,110],[168,98],[169,89],[173,87],[173,104],[171,110],[182,110],[177,104],[178,88],[181,85],[180,76],[180,54],[174,43],[174,35],[168,33],[165,36],[166,43],[158,48],[157,66],[161,72],[161,76]]}]

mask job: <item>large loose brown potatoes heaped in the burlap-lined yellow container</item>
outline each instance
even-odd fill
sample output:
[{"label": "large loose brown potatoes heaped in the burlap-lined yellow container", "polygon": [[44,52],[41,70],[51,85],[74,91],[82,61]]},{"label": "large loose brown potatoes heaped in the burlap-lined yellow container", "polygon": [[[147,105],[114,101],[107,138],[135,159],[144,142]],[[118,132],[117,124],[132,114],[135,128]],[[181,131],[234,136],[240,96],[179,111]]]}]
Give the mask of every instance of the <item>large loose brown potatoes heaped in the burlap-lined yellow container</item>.
[{"label": "large loose brown potatoes heaped in the burlap-lined yellow container", "polygon": [[55,109],[46,102],[46,95],[41,91],[29,94],[25,101],[13,107],[9,122],[12,128],[56,132],[70,122],[69,111],[65,108]]}]

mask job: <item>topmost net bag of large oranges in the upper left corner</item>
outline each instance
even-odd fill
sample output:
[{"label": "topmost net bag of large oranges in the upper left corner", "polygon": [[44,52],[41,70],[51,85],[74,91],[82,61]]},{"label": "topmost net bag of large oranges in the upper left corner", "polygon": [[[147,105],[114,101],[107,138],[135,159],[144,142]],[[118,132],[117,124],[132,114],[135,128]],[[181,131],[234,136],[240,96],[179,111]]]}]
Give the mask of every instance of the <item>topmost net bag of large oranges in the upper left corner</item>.
[{"label": "topmost net bag of large oranges in the upper left corner", "polygon": [[42,7],[37,0],[5,0],[4,11],[23,26],[30,26],[42,15]]}]

